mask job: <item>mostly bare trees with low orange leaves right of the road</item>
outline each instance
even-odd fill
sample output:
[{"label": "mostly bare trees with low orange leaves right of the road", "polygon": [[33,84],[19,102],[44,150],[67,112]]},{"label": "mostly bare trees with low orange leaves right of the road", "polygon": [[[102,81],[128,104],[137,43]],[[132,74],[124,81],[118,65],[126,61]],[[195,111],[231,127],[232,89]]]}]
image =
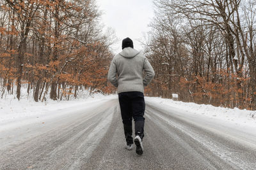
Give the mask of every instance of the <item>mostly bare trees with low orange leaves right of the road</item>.
[{"label": "mostly bare trees with low orange leaves right of the road", "polygon": [[156,0],[150,96],[256,110],[256,1]]}]

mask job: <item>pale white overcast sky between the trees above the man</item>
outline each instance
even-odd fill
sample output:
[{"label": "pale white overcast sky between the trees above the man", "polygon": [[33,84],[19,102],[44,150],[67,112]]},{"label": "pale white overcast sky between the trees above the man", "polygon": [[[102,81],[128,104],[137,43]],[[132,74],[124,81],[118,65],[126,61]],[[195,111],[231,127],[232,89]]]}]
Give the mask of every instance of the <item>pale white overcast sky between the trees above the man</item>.
[{"label": "pale white overcast sky between the trees above the man", "polygon": [[111,27],[118,41],[111,46],[116,54],[122,50],[122,39],[131,38],[134,48],[142,50],[140,40],[148,32],[148,24],[154,17],[152,0],[96,0],[102,11],[102,22]]}]

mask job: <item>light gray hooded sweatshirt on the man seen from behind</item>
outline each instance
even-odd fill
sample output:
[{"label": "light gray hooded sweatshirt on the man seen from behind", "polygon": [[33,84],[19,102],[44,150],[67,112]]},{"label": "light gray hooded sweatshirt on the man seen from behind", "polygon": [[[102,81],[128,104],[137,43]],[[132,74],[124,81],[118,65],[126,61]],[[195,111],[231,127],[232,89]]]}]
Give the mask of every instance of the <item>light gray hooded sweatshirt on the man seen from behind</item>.
[{"label": "light gray hooded sweatshirt on the man seen from behind", "polygon": [[[146,75],[143,78],[143,71]],[[116,73],[118,78],[116,78]],[[154,78],[154,69],[143,53],[131,47],[124,48],[112,60],[108,80],[117,87],[117,93],[142,92]]]}]

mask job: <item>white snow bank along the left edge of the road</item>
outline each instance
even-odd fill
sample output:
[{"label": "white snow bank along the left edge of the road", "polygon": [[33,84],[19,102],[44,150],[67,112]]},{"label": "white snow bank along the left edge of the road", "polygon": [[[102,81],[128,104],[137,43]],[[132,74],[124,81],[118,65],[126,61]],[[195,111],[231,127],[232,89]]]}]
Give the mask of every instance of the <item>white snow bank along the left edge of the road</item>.
[{"label": "white snow bank along the left edge of the road", "polygon": [[88,94],[89,92],[84,93],[83,98],[71,101],[53,101],[47,98],[44,102],[35,102],[32,97],[23,97],[18,101],[13,96],[5,96],[4,99],[0,99],[0,129],[38,122],[45,117],[55,117],[74,110],[86,110],[93,104],[116,97]]}]

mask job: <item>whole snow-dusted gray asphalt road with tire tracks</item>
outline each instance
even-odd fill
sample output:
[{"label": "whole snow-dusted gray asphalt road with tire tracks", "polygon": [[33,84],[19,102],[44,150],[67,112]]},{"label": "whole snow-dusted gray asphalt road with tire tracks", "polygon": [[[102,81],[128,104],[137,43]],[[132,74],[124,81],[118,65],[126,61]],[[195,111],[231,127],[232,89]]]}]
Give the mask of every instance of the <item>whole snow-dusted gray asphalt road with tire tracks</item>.
[{"label": "whole snow-dusted gray asphalt road with tire tracks", "polygon": [[118,100],[104,99],[1,124],[0,169],[256,169],[255,132],[146,104],[142,156],[125,150]]}]

